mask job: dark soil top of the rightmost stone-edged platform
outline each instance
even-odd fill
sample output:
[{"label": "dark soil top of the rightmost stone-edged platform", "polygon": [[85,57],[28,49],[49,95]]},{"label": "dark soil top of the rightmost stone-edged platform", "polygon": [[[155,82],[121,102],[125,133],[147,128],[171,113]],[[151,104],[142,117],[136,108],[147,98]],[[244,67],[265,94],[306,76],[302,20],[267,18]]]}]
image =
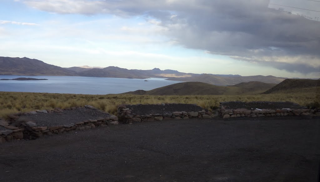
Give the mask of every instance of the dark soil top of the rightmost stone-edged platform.
[{"label": "dark soil top of the rightmost stone-edged platform", "polygon": [[261,101],[261,102],[224,102],[221,105],[225,106],[226,109],[301,109],[299,104],[292,103],[292,102],[268,102],[268,101]]}]

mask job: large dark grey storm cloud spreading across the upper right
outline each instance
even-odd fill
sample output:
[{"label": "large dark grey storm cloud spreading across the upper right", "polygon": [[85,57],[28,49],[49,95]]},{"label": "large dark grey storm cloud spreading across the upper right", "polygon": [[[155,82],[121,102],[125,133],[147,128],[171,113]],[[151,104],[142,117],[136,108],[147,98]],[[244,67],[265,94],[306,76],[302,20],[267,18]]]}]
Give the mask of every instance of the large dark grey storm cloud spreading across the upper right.
[{"label": "large dark grey storm cloud spreading across the upper right", "polygon": [[320,22],[270,9],[268,0],[26,3],[55,13],[143,15],[161,21],[157,25],[166,28],[163,34],[188,48],[301,73],[318,72],[320,68]]}]

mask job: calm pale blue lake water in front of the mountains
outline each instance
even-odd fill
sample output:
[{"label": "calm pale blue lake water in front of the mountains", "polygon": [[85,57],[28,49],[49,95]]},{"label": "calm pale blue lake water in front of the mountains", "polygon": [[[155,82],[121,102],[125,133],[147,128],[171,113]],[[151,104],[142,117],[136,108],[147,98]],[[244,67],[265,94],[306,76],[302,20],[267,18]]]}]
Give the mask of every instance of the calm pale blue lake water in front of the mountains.
[{"label": "calm pale blue lake water in front of the mountains", "polygon": [[[0,91],[5,92],[44,92],[60,94],[119,94],[135,90],[152,90],[158,87],[180,83],[159,78],[121,79],[97,77],[64,76],[16,76],[0,75],[0,79],[19,77],[48,79],[36,81],[0,80]],[[148,81],[144,81],[148,80]]]}]

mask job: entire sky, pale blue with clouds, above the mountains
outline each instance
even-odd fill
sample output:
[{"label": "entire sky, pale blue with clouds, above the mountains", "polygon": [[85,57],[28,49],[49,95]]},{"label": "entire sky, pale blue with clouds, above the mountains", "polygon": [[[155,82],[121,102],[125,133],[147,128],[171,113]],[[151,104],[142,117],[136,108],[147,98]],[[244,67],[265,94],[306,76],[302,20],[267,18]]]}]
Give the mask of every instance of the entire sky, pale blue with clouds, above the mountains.
[{"label": "entire sky, pale blue with clouds, above the mountains", "polygon": [[311,0],[1,0],[0,56],[320,78],[319,17]]}]

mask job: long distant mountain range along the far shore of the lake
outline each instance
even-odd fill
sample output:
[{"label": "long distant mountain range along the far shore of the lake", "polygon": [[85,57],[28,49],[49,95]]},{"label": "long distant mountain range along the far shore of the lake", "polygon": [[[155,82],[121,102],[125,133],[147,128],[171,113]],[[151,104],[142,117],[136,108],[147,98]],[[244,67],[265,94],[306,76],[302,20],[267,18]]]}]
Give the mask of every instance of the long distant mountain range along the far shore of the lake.
[{"label": "long distant mountain range along the far shore of the lake", "polygon": [[115,66],[101,67],[70,67],[61,68],[59,66],[47,64],[36,59],[0,57],[0,75],[25,75],[25,76],[84,76],[84,77],[108,77],[108,78],[166,78],[183,82],[204,82],[212,85],[227,86],[241,82],[260,81],[264,83],[280,83],[286,78],[274,76],[241,76],[241,75],[215,75],[215,74],[195,74],[183,73],[177,70],[128,70]]}]

